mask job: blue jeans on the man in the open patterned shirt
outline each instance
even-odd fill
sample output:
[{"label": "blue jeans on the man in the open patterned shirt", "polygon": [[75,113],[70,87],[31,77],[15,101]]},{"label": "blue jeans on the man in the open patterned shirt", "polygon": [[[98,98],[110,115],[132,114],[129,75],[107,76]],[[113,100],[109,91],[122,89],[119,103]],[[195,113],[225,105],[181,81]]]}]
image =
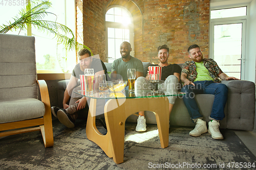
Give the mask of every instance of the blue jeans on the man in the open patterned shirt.
[{"label": "blue jeans on the man in the open patterned shirt", "polygon": [[183,102],[188,110],[191,119],[203,117],[199,113],[199,108],[195,100],[195,94],[214,94],[214,104],[212,105],[210,118],[222,120],[225,117],[224,108],[227,103],[227,86],[213,81],[196,81],[193,85],[185,85],[181,91],[185,92]]}]

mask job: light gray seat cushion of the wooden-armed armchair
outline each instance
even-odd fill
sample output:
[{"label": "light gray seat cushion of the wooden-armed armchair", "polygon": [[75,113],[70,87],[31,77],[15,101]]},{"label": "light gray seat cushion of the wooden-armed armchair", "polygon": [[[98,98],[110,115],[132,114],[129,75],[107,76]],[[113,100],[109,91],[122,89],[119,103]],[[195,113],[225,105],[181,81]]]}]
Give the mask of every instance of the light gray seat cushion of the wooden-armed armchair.
[{"label": "light gray seat cushion of the wooden-armed armchair", "polygon": [[0,123],[16,122],[45,115],[45,104],[34,98],[0,100],[0,108]]}]

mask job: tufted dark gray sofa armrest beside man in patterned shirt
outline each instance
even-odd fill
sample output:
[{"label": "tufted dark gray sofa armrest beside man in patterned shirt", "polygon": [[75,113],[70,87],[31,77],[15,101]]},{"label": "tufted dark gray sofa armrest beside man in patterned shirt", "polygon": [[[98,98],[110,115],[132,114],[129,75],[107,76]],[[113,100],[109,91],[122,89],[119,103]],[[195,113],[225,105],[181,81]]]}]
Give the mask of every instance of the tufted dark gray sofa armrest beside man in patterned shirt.
[{"label": "tufted dark gray sofa armrest beside man in patterned shirt", "polygon": [[227,128],[252,131],[255,117],[255,84],[245,80],[222,80],[228,88]]}]

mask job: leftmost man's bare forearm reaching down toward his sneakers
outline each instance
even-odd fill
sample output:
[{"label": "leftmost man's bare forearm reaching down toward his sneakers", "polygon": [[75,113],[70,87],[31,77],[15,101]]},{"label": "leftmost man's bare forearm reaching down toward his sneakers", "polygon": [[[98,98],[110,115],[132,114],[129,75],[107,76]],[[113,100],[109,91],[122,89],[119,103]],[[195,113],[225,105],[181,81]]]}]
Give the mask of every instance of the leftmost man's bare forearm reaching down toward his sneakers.
[{"label": "leftmost man's bare forearm reaching down toward his sneakers", "polygon": [[72,90],[74,89],[74,87],[77,84],[77,80],[78,80],[77,78],[75,78],[74,76],[71,75],[70,81],[69,81],[69,83],[67,85],[67,88],[64,92],[64,97],[63,97],[63,102],[62,102],[64,109],[67,109],[69,107],[69,105],[67,103],[68,103],[68,101],[70,99],[70,96],[72,94]]}]

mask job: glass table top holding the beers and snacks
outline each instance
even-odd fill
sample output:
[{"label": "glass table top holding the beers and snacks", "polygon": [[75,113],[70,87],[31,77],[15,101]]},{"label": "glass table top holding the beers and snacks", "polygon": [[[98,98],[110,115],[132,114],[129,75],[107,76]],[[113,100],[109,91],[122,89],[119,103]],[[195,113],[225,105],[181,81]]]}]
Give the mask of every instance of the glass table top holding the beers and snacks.
[{"label": "glass table top holding the beers and snacks", "polygon": [[84,90],[76,90],[74,91],[77,94],[86,96],[92,99],[136,99],[136,98],[159,98],[165,96],[181,96],[184,95],[184,92],[177,92],[173,94],[169,94],[164,91],[154,92],[151,90],[122,90],[120,92],[113,92],[110,90],[99,91],[95,90],[94,92],[88,93]]}]

